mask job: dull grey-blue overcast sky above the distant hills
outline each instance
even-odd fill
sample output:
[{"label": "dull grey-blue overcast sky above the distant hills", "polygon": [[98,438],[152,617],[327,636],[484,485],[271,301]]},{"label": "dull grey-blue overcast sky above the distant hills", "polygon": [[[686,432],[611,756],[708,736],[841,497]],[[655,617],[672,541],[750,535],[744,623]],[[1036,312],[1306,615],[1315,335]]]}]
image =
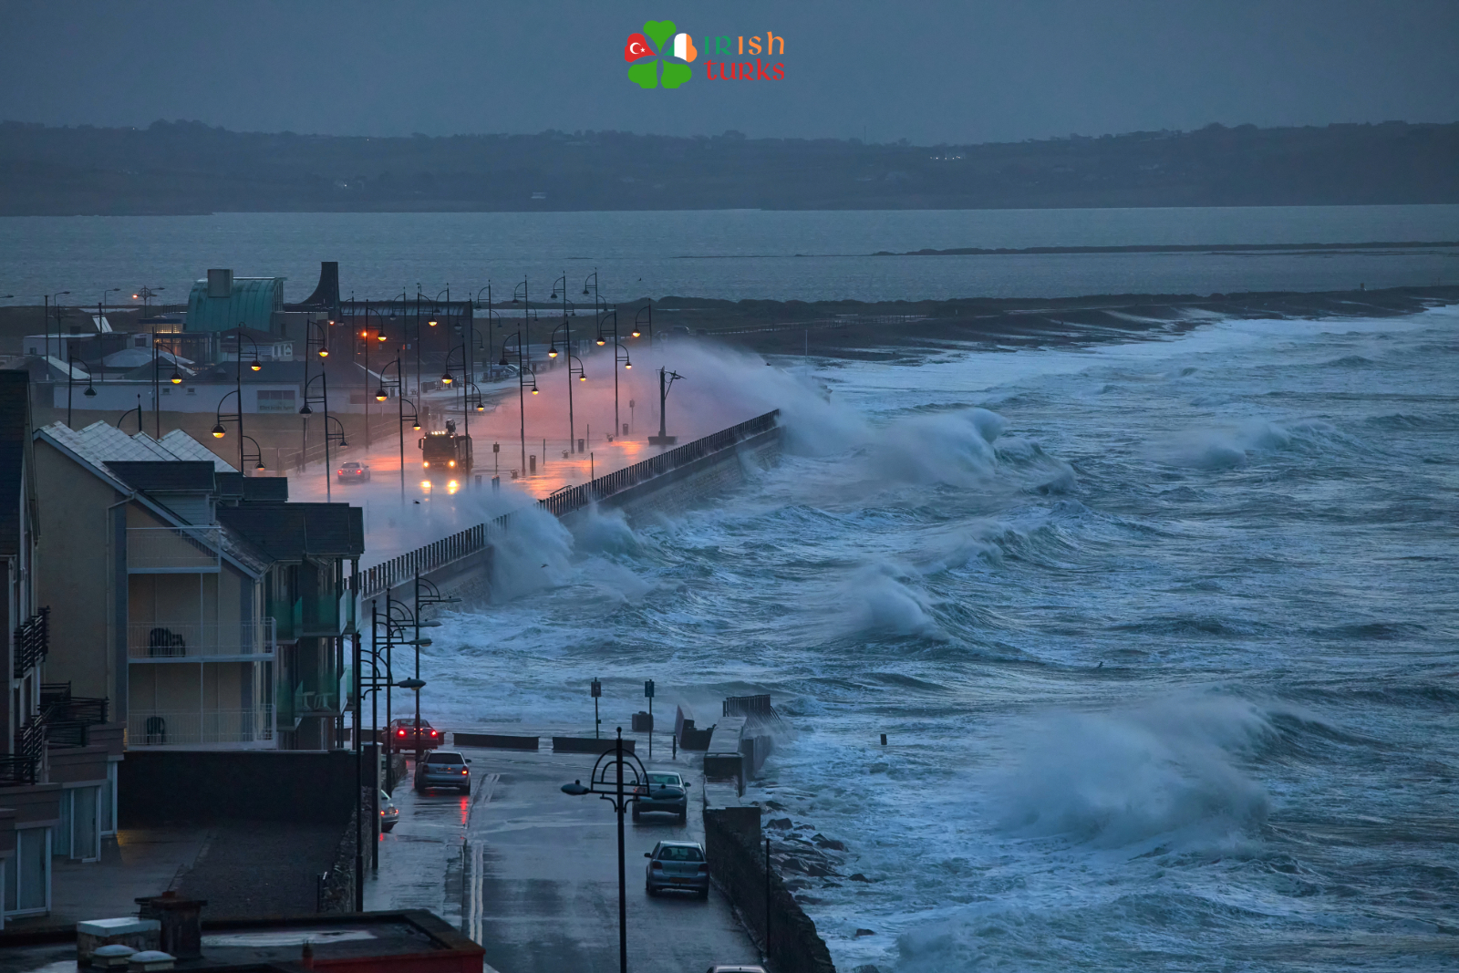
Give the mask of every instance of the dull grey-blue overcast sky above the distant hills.
[{"label": "dull grey-blue overcast sky above the distant hills", "polygon": [[[1459,0],[0,0],[0,118],[241,131],[909,139],[1459,120]],[[785,80],[642,90],[646,19]]]}]

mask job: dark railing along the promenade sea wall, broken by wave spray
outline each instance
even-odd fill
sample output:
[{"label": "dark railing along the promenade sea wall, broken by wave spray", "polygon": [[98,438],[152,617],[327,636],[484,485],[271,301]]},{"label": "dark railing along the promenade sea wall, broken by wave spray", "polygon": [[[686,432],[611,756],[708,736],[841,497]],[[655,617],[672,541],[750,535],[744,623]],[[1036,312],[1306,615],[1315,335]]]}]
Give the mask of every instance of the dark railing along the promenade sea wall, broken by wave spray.
[{"label": "dark railing along the promenade sea wall, broken by wave spray", "polygon": [[[549,497],[537,500],[537,506],[546,509],[554,516],[566,516],[573,511],[581,511],[582,508],[607,499],[614,493],[622,493],[623,490],[638,486],[639,483],[652,480],[654,477],[661,477],[673,470],[687,467],[697,460],[703,460],[705,457],[730,449],[746,439],[769,432],[775,429],[779,414],[781,410],[776,408],[748,422],[743,422],[738,426],[721,429],[719,432],[705,436],[703,439],[687,442],[683,446],[676,446],[674,449],[661,452],[657,457],[643,460],[642,462],[635,462],[632,467],[608,473],[589,483],[565,487]],[[359,573],[357,592],[362,598],[369,598],[394,588],[409,578],[414,578],[417,573],[423,575],[429,570],[441,567],[442,565],[460,560],[467,554],[484,550],[489,544],[492,532],[506,530],[511,519],[511,513],[503,513],[496,519],[477,524],[476,527],[468,527],[464,531],[432,541],[425,547],[417,547],[416,550],[391,557],[390,560],[375,565],[374,567],[368,567]]]}]

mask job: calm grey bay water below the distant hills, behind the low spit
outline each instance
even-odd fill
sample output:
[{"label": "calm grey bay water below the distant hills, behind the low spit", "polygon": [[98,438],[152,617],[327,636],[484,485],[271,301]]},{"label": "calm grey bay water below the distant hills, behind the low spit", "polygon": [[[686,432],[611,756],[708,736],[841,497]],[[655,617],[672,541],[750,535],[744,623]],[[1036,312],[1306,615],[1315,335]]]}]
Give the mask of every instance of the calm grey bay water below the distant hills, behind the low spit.
[{"label": "calm grey bay water below the distant hills, behind the low spit", "polygon": [[[601,273],[613,301],[1023,298],[1347,290],[1459,282],[1459,257],[1370,254],[1048,254],[870,257],[922,248],[1307,244],[1459,239],[1459,206],[1103,210],[223,213],[0,219],[0,293],[108,303],[142,286],[184,302],[209,267],[285,276],[302,299],[321,260],[343,289],[390,298],[490,280],[547,284]],[[581,290],[575,286],[573,292]],[[534,290],[535,293],[535,290]],[[546,287],[540,292],[547,295]],[[130,303],[130,301],[124,301]]]}]

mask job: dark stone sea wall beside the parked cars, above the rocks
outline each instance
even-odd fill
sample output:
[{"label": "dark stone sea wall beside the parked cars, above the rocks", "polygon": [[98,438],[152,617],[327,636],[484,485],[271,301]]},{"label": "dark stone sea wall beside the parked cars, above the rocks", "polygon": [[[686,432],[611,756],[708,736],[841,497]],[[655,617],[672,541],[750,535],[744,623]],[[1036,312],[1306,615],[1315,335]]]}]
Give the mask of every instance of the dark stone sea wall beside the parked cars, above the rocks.
[{"label": "dark stone sea wall beside the parked cars, above the rocks", "polygon": [[705,843],[711,880],[734,904],[775,973],[836,973],[826,941],[781,877],[770,869],[766,883],[760,808],[705,808]]}]

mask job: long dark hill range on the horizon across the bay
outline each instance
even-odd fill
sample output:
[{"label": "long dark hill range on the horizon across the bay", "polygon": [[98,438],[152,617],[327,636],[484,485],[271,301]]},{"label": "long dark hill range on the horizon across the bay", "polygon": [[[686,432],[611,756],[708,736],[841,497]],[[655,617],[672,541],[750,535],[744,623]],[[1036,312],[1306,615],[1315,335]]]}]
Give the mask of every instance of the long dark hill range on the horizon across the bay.
[{"label": "long dark hill range on the horizon across the bay", "polygon": [[366,139],[0,123],[0,214],[1459,203],[1459,124],[978,146],[617,131]]}]

